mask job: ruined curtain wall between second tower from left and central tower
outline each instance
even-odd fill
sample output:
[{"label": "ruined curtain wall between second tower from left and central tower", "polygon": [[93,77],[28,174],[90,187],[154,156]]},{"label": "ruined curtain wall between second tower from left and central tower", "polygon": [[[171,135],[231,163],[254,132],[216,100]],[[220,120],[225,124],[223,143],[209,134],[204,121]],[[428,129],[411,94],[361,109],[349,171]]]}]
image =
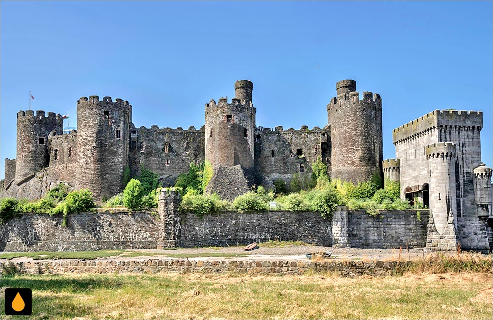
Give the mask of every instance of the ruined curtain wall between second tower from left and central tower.
[{"label": "ruined curtain wall between second tower from left and central tower", "polygon": [[199,130],[193,126],[188,130],[131,128],[129,165],[133,175],[140,173],[142,164],[161,177],[169,177],[171,183],[179,174],[188,172],[190,163],[200,164],[204,153],[204,126]]}]

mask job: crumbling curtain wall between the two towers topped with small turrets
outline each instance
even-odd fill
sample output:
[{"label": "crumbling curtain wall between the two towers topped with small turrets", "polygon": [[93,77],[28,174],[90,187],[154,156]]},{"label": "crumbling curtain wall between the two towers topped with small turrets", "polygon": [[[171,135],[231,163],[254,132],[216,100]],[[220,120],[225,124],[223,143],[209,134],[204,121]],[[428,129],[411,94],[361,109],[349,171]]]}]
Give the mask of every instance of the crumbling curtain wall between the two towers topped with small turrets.
[{"label": "crumbling curtain wall between the two towers topped with small turrets", "polygon": [[284,130],[278,126],[275,130],[255,130],[255,168],[264,177],[288,181],[294,173],[308,174],[318,157],[325,163],[327,159],[330,160],[330,136],[327,129],[302,126],[300,130]]}]

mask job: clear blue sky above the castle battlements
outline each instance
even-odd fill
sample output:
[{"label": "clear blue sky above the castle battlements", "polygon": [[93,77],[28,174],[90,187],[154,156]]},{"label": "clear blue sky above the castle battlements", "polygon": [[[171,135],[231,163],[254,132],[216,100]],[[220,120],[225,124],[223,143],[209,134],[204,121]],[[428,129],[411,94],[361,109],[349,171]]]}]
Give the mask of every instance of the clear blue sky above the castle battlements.
[{"label": "clear blue sky above the castle battlements", "polygon": [[[481,110],[492,166],[492,2],[1,1],[1,178],[16,112],[128,100],[137,126],[204,124],[204,104],[253,81],[257,124],[327,124],[335,83],[383,101],[392,129],[435,109]],[[65,124],[67,125],[67,123]]]}]

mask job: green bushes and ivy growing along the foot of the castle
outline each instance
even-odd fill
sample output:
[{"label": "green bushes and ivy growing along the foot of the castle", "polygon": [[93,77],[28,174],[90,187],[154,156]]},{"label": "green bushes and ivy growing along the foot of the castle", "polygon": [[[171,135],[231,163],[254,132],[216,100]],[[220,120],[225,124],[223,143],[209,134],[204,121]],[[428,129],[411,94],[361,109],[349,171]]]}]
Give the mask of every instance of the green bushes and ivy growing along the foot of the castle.
[{"label": "green bushes and ivy growing along the foot of the castle", "polygon": [[[348,206],[351,210],[366,210],[372,216],[378,216],[380,210],[411,208],[407,200],[400,199],[399,182],[386,181],[382,189],[377,174],[370,181],[358,184],[331,180],[327,175],[327,165],[320,157],[312,163],[311,174],[294,174],[289,184],[275,180],[273,190],[258,186],[256,190],[240,195],[232,202],[221,200],[217,194],[205,195],[212,174],[211,164],[203,161],[199,165],[191,163],[188,173],[178,176],[175,188],[183,194],[180,205],[182,212],[203,216],[220,211],[261,212],[274,209],[319,212],[324,218],[331,218],[339,205]],[[132,211],[156,208],[161,192],[158,185],[158,175],[141,166],[141,174],[130,179],[124,191],[108,199],[103,207],[127,208]],[[276,203],[274,208],[270,206],[272,202]],[[63,214],[65,225],[68,213],[88,212],[95,207],[89,190],[69,192],[68,186],[60,184],[37,201],[1,199],[1,223],[16,215],[35,213]],[[414,208],[423,206],[418,203]]]}]

